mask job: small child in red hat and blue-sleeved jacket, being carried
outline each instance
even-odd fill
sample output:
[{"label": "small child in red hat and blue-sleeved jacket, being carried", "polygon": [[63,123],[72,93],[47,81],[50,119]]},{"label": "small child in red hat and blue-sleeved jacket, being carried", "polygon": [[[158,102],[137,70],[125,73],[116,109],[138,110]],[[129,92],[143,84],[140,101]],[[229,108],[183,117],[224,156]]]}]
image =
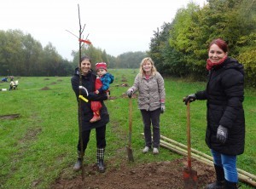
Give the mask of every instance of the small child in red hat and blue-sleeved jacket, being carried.
[{"label": "small child in red hat and blue-sleeved jacket, being carried", "polygon": [[[95,83],[95,93],[107,93],[109,95],[109,84],[113,83],[113,75],[107,72],[107,64],[105,62],[96,63],[96,83]],[[100,101],[91,101],[90,107],[93,112],[93,117],[90,119],[90,123],[101,120],[100,110],[102,108],[102,103]]]}]

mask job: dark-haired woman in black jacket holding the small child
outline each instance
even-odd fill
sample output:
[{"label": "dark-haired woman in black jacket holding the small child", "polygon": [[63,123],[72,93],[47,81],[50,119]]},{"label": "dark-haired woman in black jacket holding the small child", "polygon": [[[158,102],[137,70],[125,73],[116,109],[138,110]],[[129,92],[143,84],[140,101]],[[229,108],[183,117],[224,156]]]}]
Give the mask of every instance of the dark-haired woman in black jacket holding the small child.
[{"label": "dark-haired woman in black jacket holding the small child", "polygon": [[[78,142],[78,161],[75,163],[73,169],[78,171],[82,166],[82,152],[84,154],[87,144],[90,140],[90,130],[96,129],[96,158],[97,158],[97,166],[99,172],[105,171],[104,166],[104,152],[106,147],[106,124],[109,122],[108,109],[104,105],[103,100],[107,100],[108,96],[106,93],[96,94],[95,91],[95,83],[96,83],[96,74],[91,70],[91,60],[89,57],[84,56],[80,62],[81,66],[81,79],[82,86],[79,83],[79,68],[76,68],[73,77],[71,78],[72,88],[74,93],[76,94],[77,101],[79,102],[79,90],[80,93],[87,99],[89,102],[85,102],[82,100],[81,104],[81,121],[82,121],[82,139],[83,139],[83,149],[81,149],[81,142],[79,138]],[[85,92],[85,89],[88,90],[88,94]],[[90,109],[90,101],[101,101],[102,109],[101,120],[95,123],[90,123],[90,119],[93,117],[93,112]]]}]

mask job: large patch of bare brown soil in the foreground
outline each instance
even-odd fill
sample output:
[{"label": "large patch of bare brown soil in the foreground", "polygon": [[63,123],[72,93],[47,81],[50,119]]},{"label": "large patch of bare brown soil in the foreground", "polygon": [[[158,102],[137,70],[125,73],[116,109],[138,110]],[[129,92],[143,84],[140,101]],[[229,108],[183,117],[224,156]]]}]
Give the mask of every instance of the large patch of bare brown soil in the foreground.
[{"label": "large patch of bare brown soil in the foreground", "polygon": [[[108,164],[113,163],[107,162],[107,166]],[[183,168],[186,165],[186,158],[143,164],[123,162],[118,168],[107,167],[103,174],[97,173],[96,165],[84,165],[84,180],[81,175],[72,180],[61,176],[51,188],[178,189],[183,188]],[[198,188],[204,188],[207,183],[215,180],[214,170],[210,166],[193,160],[192,169],[197,171]]]}]

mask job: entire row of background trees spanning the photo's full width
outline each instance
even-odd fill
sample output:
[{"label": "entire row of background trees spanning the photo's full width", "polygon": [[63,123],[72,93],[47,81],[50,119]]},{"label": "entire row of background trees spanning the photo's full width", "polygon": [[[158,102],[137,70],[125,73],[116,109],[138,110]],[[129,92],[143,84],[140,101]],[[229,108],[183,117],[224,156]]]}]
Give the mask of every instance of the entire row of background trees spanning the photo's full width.
[{"label": "entire row of background trees spanning the photo's full width", "polygon": [[[229,55],[244,65],[246,82],[255,87],[255,0],[207,0],[202,8],[189,3],[177,10],[172,22],[154,31],[148,52],[114,57],[90,45],[82,48],[82,54],[93,62],[107,62],[109,68],[138,68],[145,56],[151,56],[158,71],[166,76],[201,80],[207,74],[207,45],[216,37],[229,43]],[[79,51],[73,50],[72,55],[72,61],[65,60],[51,43],[43,47],[20,30],[0,31],[2,76],[70,76],[78,66]]]}]

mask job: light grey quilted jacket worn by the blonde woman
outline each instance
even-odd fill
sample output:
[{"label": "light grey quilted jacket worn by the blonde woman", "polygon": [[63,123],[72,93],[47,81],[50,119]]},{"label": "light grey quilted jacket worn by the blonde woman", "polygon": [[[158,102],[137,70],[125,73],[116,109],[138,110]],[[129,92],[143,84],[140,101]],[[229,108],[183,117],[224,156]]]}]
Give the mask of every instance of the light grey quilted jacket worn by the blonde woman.
[{"label": "light grey quilted jacket worn by the blonde woman", "polygon": [[160,108],[160,100],[166,99],[164,79],[159,72],[148,79],[137,74],[131,89],[139,93],[137,105],[140,110],[154,111]]}]

